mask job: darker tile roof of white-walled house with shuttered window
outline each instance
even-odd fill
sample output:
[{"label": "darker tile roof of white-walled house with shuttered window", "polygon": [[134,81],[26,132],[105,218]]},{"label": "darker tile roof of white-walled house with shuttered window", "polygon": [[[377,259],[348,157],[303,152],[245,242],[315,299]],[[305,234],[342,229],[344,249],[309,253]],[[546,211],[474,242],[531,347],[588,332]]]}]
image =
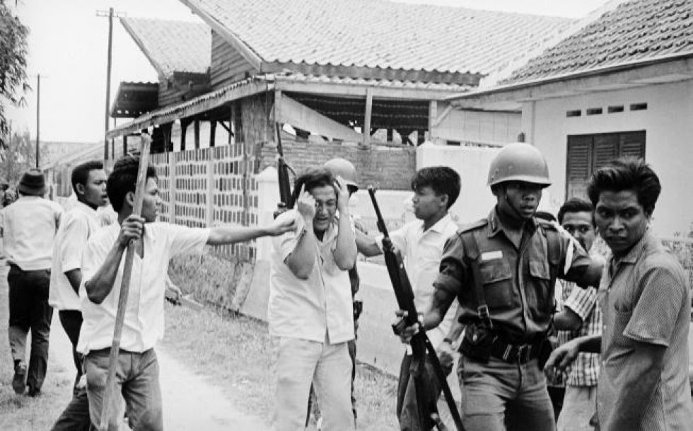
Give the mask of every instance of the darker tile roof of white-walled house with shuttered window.
[{"label": "darker tile roof of white-walled house with shuttered window", "polygon": [[693,0],[632,0],[545,50],[501,84],[693,54]]}]

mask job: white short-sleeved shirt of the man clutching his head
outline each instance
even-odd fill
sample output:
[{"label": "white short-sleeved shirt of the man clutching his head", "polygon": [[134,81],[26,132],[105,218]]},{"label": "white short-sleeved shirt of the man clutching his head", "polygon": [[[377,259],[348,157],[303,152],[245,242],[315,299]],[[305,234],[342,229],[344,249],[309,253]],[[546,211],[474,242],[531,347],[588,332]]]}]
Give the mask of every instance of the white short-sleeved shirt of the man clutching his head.
[{"label": "white short-sleeved shirt of the man clutching his head", "polygon": [[[293,275],[284,260],[298,243],[305,222],[296,210],[281,214],[281,219],[296,219],[296,231],[272,241],[269,274],[269,333],[278,337],[343,343],[354,338],[354,314],[351,285],[347,271],[334,262],[337,224],[332,222],[322,241],[316,241],[315,265],[308,280]],[[313,229],[313,226],[308,226]]]}]

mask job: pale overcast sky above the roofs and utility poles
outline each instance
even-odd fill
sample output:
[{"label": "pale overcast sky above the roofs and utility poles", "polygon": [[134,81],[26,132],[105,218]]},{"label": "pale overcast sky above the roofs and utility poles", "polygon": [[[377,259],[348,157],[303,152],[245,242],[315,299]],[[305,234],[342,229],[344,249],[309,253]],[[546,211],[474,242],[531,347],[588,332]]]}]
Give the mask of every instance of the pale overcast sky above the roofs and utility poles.
[{"label": "pale overcast sky above the roofs and utility poles", "polygon": [[[287,4],[291,1],[287,0]],[[485,8],[581,18],[605,0],[400,0],[406,3]],[[108,19],[97,10],[130,17],[199,21],[178,0],[19,0],[17,10],[30,27],[28,73],[35,89],[41,74],[41,140],[98,142],[103,139]],[[156,71],[125,33],[113,23],[111,103],[121,81],[157,81]],[[13,130],[36,134],[36,93],[27,105],[10,109]],[[121,119],[121,122],[127,120]],[[112,125],[112,120],[111,120]]]}]

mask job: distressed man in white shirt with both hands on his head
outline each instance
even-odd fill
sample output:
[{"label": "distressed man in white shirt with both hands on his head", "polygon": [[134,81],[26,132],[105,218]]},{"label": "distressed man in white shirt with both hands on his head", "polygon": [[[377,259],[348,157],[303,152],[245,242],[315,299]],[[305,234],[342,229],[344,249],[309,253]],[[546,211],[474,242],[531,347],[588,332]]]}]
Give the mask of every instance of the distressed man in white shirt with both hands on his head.
[{"label": "distressed man in white shirt with both hands on his head", "polygon": [[[326,168],[296,178],[296,209],[278,221],[296,229],[274,240],[269,278],[269,333],[279,338],[276,430],[302,430],[313,383],[322,430],[353,430],[351,285],[356,263],[349,190]],[[339,210],[339,217],[335,214]]]}]

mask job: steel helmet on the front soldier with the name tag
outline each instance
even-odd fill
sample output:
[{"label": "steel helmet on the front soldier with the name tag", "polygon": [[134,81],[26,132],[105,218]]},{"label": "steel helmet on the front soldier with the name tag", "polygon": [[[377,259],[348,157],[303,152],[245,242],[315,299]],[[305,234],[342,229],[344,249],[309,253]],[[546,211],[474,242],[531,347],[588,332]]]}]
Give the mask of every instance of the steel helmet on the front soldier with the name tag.
[{"label": "steel helmet on the front soldier with the name tag", "polygon": [[551,185],[549,166],[537,147],[523,142],[503,146],[491,161],[488,185],[506,181],[524,181],[544,187]]}]

